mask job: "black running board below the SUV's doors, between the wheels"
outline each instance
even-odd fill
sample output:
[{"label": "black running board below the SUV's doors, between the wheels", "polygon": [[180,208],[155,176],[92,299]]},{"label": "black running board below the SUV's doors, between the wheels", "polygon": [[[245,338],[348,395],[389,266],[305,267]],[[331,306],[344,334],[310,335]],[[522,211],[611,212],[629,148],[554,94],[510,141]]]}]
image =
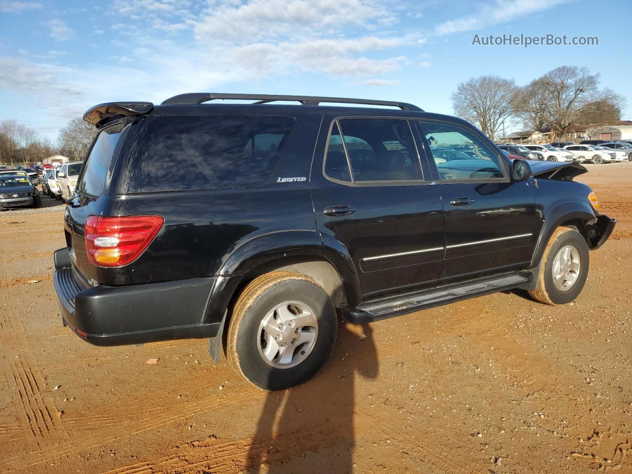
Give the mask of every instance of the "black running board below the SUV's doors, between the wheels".
[{"label": "black running board below the SUV's doors, between the wheels", "polygon": [[532,275],[526,272],[506,273],[465,283],[442,286],[441,288],[406,293],[380,300],[368,301],[353,308],[341,308],[345,321],[363,324],[387,319],[435,306],[447,305],[455,301],[489,295],[507,289],[520,288],[530,283]]}]

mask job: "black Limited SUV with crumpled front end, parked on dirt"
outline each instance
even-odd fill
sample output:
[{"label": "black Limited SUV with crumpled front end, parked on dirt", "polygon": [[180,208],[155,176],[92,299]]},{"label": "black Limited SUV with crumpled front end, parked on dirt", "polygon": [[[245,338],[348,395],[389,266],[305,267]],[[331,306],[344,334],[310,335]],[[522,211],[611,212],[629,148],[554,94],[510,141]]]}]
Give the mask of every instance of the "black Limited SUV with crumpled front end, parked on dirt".
[{"label": "black Limited SUV with crumpled front end, parked on dirt", "polygon": [[615,224],[584,167],[512,162],[403,102],[183,94],[84,119],[100,131],[54,254],[64,324],[100,346],[209,338],[264,389],[310,379],[337,317],[513,288],[573,301]]}]

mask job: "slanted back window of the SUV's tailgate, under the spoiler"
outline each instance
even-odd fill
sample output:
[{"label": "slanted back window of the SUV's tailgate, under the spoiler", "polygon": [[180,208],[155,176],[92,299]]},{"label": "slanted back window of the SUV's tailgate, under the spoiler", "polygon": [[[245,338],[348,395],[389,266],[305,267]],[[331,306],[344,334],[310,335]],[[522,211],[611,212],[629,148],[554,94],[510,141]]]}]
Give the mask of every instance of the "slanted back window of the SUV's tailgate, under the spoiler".
[{"label": "slanted back window of the SUV's tailgate, under the spoiler", "polygon": [[[90,196],[100,196],[105,191],[107,167],[109,167],[116,143],[123,133],[123,123],[112,125],[100,131],[84,164],[68,166],[68,175],[78,174],[85,165],[85,172],[78,191]],[[76,168],[76,169],[75,169]]]}]

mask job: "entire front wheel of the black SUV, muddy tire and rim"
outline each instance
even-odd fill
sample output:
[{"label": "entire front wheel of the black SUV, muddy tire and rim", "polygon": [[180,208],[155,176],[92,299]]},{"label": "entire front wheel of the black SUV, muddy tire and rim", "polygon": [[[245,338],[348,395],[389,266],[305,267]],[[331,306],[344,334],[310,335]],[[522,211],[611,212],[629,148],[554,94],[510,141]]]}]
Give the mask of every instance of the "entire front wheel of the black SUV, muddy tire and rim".
[{"label": "entire front wheel of the black SUV, muddy tire and rim", "polygon": [[571,228],[556,229],[542,256],[538,286],[529,294],[546,305],[570,303],[584,288],[588,262],[588,245],[583,236]]}]

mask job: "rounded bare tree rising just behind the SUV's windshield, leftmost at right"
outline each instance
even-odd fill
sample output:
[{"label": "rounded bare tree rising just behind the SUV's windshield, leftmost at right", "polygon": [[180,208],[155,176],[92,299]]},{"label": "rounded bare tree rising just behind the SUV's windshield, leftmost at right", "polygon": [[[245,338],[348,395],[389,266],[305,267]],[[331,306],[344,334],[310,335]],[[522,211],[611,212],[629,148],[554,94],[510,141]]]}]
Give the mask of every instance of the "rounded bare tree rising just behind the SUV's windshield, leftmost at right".
[{"label": "rounded bare tree rising just behind the SUV's windshield, leftmost at right", "polygon": [[513,80],[499,76],[480,76],[462,82],[452,94],[454,113],[469,120],[494,140],[502,121],[513,114]]}]

